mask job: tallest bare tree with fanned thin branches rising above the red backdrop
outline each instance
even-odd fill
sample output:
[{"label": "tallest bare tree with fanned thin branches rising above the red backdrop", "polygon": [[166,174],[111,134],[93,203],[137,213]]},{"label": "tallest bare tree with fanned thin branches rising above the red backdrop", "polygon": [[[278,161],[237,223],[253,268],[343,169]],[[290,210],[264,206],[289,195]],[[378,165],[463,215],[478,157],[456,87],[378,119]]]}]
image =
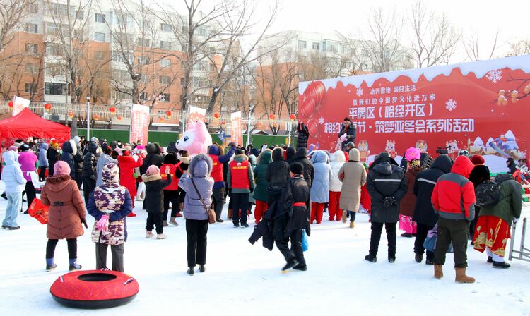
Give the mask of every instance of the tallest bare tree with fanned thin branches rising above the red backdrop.
[{"label": "tallest bare tree with fanned thin branches rising above the red backdrop", "polygon": [[413,30],[411,47],[416,66],[430,67],[449,63],[459,43],[460,32],[446,13],[437,13],[416,0],[411,8],[409,24]]}]

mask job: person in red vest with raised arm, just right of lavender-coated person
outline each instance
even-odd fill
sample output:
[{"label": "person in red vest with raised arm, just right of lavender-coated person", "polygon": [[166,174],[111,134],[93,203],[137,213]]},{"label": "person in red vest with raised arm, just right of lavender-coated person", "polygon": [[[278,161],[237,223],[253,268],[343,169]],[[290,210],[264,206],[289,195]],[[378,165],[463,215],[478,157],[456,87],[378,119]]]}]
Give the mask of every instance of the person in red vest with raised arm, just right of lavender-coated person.
[{"label": "person in red vest with raised arm, just right of lavender-coated person", "polygon": [[[212,202],[216,211],[216,219],[218,223],[222,223],[223,219],[220,218],[221,212],[223,212],[223,206],[225,206],[225,179],[223,177],[223,164],[228,162],[232,154],[235,152],[235,144],[230,142],[230,150],[226,154],[221,156],[223,150],[218,145],[211,145],[208,147],[208,156],[210,156],[213,162],[213,169],[211,171],[211,177],[215,183],[213,184]],[[229,216],[230,217],[230,216]]]}]

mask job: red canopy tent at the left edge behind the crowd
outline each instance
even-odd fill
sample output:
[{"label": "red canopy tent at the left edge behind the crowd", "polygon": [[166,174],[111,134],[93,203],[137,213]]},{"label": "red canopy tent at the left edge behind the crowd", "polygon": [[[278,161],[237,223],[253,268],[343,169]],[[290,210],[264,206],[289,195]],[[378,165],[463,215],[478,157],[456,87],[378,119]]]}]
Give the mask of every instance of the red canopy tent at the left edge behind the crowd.
[{"label": "red canopy tent at the left edge behind the crowd", "polygon": [[26,140],[30,136],[44,138],[47,142],[49,142],[50,138],[55,138],[59,144],[62,144],[70,139],[70,128],[42,119],[28,108],[23,109],[16,116],[0,121],[2,147],[13,144],[18,138]]}]

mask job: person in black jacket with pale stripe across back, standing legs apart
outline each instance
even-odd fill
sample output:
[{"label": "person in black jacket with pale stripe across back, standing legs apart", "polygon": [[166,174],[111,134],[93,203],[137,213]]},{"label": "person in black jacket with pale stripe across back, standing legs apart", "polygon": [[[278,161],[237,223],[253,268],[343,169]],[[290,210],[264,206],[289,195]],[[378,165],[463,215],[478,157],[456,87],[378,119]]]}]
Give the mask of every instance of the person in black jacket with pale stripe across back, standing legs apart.
[{"label": "person in black jacket with pale stripe across back, standing legs apart", "polygon": [[372,197],[372,236],[370,238],[370,253],[365,260],[376,262],[377,250],[383,224],[387,231],[388,260],[396,260],[396,224],[399,221],[399,201],[407,193],[405,170],[398,166],[388,152],[382,152],[375,157],[369,168],[366,188]]}]

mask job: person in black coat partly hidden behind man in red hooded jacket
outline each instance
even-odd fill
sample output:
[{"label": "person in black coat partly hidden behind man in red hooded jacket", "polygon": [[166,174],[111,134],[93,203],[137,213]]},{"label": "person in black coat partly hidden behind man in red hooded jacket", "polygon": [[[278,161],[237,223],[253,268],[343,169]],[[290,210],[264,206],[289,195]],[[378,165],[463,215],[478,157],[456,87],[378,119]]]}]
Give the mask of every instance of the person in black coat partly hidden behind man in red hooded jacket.
[{"label": "person in black coat partly hidden behind man in red hooded jacket", "polygon": [[[435,214],[435,209],[432,207],[430,197],[432,190],[435,188],[436,181],[443,174],[448,174],[451,171],[453,162],[449,156],[441,154],[430,166],[430,169],[421,171],[414,182],[413,192],[416,195],[416,205],[414,205],[414,213],[412,220],[418,224],[418,231],[416,232],[416,240],[414,241],[414,253],[416,253],[416,262],[423,260],[423,242],[427,238],[427,233],[430,231],[438,221],[438,215]],[[425,264],[433,265],[435,253],[427,251],[427,259]]]}]

